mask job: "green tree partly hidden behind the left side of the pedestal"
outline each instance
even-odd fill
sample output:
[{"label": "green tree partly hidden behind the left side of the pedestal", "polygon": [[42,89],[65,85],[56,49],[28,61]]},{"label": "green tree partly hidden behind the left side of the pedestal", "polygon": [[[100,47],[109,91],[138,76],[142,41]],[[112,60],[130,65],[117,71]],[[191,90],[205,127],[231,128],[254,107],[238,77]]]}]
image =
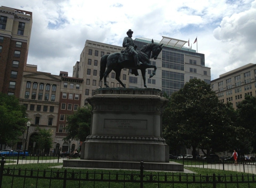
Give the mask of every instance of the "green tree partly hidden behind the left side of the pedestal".
[{"label": "green tree partly hidden behind the left side of the pedestal", "polygon": [[76,139],[85,141],[90,134],[92,106],[86,105],[79,108],[74,114],[67,116],[68,126],[66,127],[68,135],[65,140]]}]

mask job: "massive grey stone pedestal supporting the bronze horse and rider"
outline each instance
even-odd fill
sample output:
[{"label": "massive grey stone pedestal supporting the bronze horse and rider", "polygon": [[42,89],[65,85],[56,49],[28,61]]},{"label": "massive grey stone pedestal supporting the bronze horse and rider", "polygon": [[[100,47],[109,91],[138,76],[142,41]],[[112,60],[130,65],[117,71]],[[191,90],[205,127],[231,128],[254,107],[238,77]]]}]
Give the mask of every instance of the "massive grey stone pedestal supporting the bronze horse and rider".
[{"label": "massive grey stone pedestal supporting the bronze horse and rider", "polygon": [[[92,124],[81,149],[82,166],[101,161],[108,168],[122,164],[126,168],[143,159],[154,164],[152,170],[163,165],[172,170],[169,147],[162,137],[162,113],[168,99],[161,90],[101,88],[87,101],[92,105]],[[183,171],[183,165],[178,171]]]}]

